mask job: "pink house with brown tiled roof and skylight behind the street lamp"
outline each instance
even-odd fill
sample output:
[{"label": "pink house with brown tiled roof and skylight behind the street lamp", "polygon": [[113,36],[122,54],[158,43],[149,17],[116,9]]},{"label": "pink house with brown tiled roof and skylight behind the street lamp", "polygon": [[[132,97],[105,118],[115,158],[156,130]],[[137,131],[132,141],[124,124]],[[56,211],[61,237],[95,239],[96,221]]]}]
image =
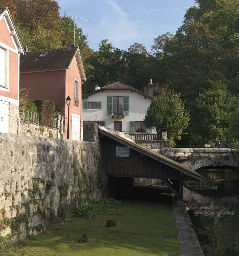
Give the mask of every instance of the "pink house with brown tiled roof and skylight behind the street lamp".
[{"label": "pink house with brown tiled roof and skylight behind the street lamp", "polygon": [[[20,89],[27,88],[31,99],[49,99],[65,111],[65,134],[81,140],[82,84],[86,81],[79,47],[26,52],[20,59]],[[66,97],[71,98],[69,117]]]}]

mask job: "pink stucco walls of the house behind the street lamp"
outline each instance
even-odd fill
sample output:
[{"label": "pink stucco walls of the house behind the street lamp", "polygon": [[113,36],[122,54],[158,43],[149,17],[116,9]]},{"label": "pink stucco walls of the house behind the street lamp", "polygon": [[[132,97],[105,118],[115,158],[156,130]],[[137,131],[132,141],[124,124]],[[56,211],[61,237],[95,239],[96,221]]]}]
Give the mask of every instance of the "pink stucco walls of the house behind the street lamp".
[{"label": "pink stucco walls of the house behind the street lamp", "polygon": [[[78,83],[78,107],[74,105],[74,78]],[[67,110],[66,97],[70,96],[71,105],[69,107],[69,138],[71,138],[71,114],[81,115],[81,76],[78,69],[76,58],[69,69],[60,71],[30,72],[20,73],[20,89],[29,88],[31,99],[50,99],[57,106],[65,107],[67,138]]]}]

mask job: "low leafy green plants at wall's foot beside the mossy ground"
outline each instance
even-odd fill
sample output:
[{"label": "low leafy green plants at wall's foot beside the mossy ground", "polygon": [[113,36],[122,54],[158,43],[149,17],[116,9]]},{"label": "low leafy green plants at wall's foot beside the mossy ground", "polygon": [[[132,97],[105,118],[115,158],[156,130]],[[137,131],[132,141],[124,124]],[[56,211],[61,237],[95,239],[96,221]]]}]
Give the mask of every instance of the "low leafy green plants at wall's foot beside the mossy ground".
[{"label": "low leafy green plants at wall's foot beside the mossy ground", "polygon": [[112,211],[112,208],[122,204],[113,198],[105,198],[95,204],[88,204],[76,209],[75,215],[78,217],[93,218],[97,214],[104,214]]}]

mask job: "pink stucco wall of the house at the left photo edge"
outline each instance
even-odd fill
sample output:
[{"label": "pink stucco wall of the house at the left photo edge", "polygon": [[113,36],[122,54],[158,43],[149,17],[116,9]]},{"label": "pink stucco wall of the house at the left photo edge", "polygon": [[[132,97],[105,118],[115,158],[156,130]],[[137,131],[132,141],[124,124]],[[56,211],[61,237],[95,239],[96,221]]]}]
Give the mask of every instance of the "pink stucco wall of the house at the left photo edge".
[{"label": "pink stucco wall of the house at the left photo edge", "polygon": [[[0,42],[12,47],[15,50],[4,19],[0,21]],[[18,100],[18,65],[18,53],[9,50],[9,91],[3,91],[0,87],[1,96]]]}]

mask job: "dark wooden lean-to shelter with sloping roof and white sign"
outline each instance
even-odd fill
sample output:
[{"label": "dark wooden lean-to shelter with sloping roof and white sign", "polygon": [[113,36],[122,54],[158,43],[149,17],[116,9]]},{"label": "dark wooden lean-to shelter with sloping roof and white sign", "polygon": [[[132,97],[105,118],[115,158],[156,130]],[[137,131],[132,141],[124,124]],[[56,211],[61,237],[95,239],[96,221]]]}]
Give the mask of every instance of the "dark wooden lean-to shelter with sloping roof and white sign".
[{"label": "dark wooden lean-to shelter with sloping roof and white sign", "polygon": [[183,200],[185,176],[208,182],[195,170],[146,149],[121,133],[99,126],[99,134],[101,156],[108,176],[161,179],[180,201]]}]

